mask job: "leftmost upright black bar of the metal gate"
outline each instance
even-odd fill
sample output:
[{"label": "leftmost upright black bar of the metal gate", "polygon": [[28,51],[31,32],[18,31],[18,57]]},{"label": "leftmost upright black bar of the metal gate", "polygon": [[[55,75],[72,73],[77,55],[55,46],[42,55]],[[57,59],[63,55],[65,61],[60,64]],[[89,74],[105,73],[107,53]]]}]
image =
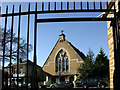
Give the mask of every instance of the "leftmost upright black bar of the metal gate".
[{"label": "leftmost upright black bar of the metal gate", "polygon": [[[8,14],[8,6],[6,7],[6,15]],[[6,40],[7,16],[5,17],[4,42],[3,42],[3,69],[2,69],[2,88],[4,88],[4,62],[5,62],[5,40]]]}]

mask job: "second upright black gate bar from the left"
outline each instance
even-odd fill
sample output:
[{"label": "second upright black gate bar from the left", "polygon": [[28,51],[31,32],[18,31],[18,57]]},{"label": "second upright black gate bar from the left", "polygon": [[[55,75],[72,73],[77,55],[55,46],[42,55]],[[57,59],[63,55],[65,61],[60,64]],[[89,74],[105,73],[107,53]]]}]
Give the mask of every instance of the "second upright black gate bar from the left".
[{"label": "second upright black gate bar from the left", "polygon": [[[12,13],[14,14],[14,5],[13,5],[13,11]],[[12,59],[12,41],[13,41],[13,24],[14,24],[14,16],[12,16],[12,24],[11,24],[11,41],[10,41],[10,87],[11,87],[11,59]]]}]

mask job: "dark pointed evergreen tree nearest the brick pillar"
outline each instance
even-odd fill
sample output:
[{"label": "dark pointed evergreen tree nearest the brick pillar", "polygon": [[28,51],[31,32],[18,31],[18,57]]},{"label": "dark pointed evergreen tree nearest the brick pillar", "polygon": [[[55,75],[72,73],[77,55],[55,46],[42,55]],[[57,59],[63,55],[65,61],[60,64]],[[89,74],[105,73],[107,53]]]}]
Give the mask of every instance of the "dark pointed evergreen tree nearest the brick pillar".
[{"label": "dark pointed evergreen tree nearest the brick pillar", "polygon": [[101,48],[94,64],[94,75],[109,78],[109,60]]}]

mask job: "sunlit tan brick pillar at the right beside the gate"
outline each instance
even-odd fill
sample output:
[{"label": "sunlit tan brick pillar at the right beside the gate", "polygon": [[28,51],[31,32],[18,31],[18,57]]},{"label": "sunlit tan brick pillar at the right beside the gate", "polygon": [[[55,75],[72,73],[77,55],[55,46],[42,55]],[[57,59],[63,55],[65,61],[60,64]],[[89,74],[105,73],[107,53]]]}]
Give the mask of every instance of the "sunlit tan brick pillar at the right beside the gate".
[{"label": "sunlit tan brick pillar at the right beside the gate", "polygon": [[[115,8],[118,12],[118,0],[115,2]],[[114,8],[114,7],[112,7]],[[108,14],[107,17],[113,17],[114,15]],[[109,45],[109,72],[110,72],[110,88],[113,90],[113,74],[114,74],[114,41],[113,41],[113,28],[110,26],[111,21],[107,21],[108,30],[108,45]]]}]

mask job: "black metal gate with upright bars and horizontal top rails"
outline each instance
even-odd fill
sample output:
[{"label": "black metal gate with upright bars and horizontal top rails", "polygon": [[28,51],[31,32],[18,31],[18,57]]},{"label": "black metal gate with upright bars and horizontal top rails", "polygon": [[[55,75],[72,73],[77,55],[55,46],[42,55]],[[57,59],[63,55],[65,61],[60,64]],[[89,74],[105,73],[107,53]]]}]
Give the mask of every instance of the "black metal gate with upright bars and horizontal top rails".
[{"label": "black metal gate with upright bars and horizontal top rails", "polygon": [[[29,4],[29,7],[28,7],[28,11],[27,12],[21,12],[21,5],[19,6],[19,12],[18,13],[15,13],[14,12],[14,5],[13,5],[13,10],[12,10],[12,13],[8,13],[8,6],[6,7],[6,14],[2,14],[1,15],[1,18],[5,18],[5,23],[4,23],[4,41],[3,41],[3,63],[2,63],[2,89],[5,88],[4,86],[4,64],[5,64],[5,41],[6,41],[6,27],[7,27],[7,19],[8,17],[11,17],[12,18],[12,25],[11,25],[11,42],[10,42],[10,63],[11,63],[11,56],[12,56],[12,38],[13,38],[13,25],[15,24],[14,23],[14,17],[15,16],[19,16],[19,22],[18,22],[18,44],[17,44],[17,79],[19,78],[19,72],[18,72],[18,69],[19,69],[19,42],[20,42],[20,31],[21,31],[21,28],[20,28],[20,24],[21,24],[21,16],[22,15],[28,15],[28,27],[27,27],[27,67],[28,67],[28,45],[29,45],[29,28],[30,28],[30,24],[29,24],[29,21],[30,21],[30,15],[33,14],[35,15],[35,22],[34,22],[34,67],[36,66],[37,64],[37,61],[36,61],[36,42],[37,42],[37,24],[38,23],[47,23],[47,22],[72,22],[72,21],[111,21],[111,25],[113,25],[113,37],[114,37],[114,60],[115,60],[115,73],[116,74],[119,74],[120,75],[120,38],[119,38],[119,25],[118,25],[118,19],[120,19],[120,11],[116,12],[116,9],[115,9],[115,2],[106,2],[106,8],[103,8],[102,7],[102,4],[103,2],[99,2],[99,5],[100,5],[100,8],[96,8],[96,3],[95,2],[92,2],[93,3],[93,9],[90,8],[90,5],[89,5],[89,2],[86,3],[86,6],[87,6],[87,9],[83,9],[83,2],[78,2],[80,4],[80,8],[79,9],[76,9],[75,6],[76,6],[76,2],[73,2],[74,5],[73,5],[73,10],[70,10],[69,9],[69,2],[67,2],[67,10],[63,10],[63,2],[60,2],[61,3],[61,10],[57,10],[56,9],[56,2],[54,2],[54,10],[51,10],[50,8],[50,4],[51,2],[48,3],[48,10],[45,11],[44,10],[44,2],[42,2],[42,11],[38,11],[37,10],[37,3],[36,3],[36,6],[35,6],[35,11],[30,11],[30,4]],[[114,6],[114,8],[112,9],[112,6]],[[119,1],[119,10],[120,10],[120,1]],[[39,14],[51,14],[51,13],[74,13],[74,12],[105,12],[105,15],[103,15],[102,18],[97,18],[97,17],[86,17],[86,18],[51,18],[51,19],[39,19],[37,18],[37,15]],[[112,13],[114,14],[114,17],[113,18],[108,18],[107,17],[107,14],[109,13]],[[11,76],[11,64],[10,64],[10,76]],[[37,74],[37,73],[36,73]],[[36,74],[34,75],[34,77],[36,77]],[[116,75],[115,74],[115,75]],[[11,77],[10,78],[10,87],[11,87]],[[116,75],[115,78],[114,78],[115,82],[114,82],[114,88],[116,87],[120,87],[119,84],[120,82],[118,80],[120,80],[120,76]],[[117,80],[118,79],[118,80]],[[118,81],[118,82],[117,82]],[[27,68],[27,86],[28,86],[28,68]],[[33,88],[35,88],[36,84],[34,83],[33,85]],[[17,81],[17,89],[18,89],[18,81]]]}]

